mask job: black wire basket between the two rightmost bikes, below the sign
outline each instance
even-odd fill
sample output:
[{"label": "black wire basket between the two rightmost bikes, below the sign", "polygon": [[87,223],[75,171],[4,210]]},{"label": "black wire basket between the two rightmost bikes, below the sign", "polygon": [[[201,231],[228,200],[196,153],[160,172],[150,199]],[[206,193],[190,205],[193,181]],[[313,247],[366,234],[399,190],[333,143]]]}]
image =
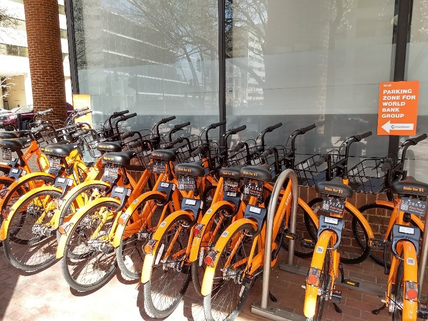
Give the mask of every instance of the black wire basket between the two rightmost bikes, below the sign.
[{"label": "black wire basket between the two rightmost bikes, below the sign", "polygon": [[365,158],[348,170],[349,185],[357,193],[382,193],[388,184],[388,171],[381,170],[383,158]]}]

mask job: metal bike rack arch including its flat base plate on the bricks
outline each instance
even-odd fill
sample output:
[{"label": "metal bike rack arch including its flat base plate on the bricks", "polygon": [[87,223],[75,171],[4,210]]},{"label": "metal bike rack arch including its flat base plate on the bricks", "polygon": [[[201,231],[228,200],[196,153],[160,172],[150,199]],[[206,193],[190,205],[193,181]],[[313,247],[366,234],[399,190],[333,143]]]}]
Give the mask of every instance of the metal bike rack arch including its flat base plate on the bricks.
[{"label": "metal bike rack arch including its flat base plate on the bricks", "polygon": [[[274,190],[272,192],[271,200],[269,201],[268,214],[266,217],[266,236],[265,236],[265,257],[263,265],[263,290],[261,302],[254,302],[251,306],[251,312],[275,321],[300,321],[306,320],[303,316],[287,312],[285,310],[277,309],[268,306],[269,297],[269,277],[271,275],[271,260],[272,260],[272,234],[274,230],[274,217],[276,203],[278,202],[279,192],[285,180],[290,177],[292,186],[292,203],[291,203],[291,232],[296,232],[296,219],[297,219],[297,201],[299,198],[299,183],[296,173],[292,169],[283,171],[276,180]],[[289,241],[288,263],[293,264],[294,259],[294,240]]]}]

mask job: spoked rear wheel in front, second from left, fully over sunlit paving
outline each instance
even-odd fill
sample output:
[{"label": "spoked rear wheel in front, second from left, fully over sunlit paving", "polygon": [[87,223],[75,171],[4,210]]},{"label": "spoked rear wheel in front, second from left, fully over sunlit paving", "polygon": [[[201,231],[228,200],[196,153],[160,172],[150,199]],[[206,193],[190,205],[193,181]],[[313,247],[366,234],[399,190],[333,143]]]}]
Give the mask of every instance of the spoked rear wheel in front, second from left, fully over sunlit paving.
[{"label": "spoked rear wheel in front, second from left, fully over sunlit paving", "polygon": [[[115,215],[112,215],[99,228],[99,223],[104,220],[103,215],[110,210],[115,210],[118,206],[117,203],[109,200],[93,204],[71,228],[65,244],[64,256],[61,259],[62,275],[71,288],[80,292],[97,289],[115,272],[117,263],[114,252],[106,254],[100,251],[97,245],[106,244],[106,237],[115,221]],[[102,208],[104,208],[103,212],[96,212],[97,209]],[[95,232],[97,232],[96,236],[91,237]],[[76,241],[73,241],[73,236]],[[81,250],[81,254],[76,257],[78,250]],[[69,252],[72,253],[71,256]],[[76,270],[73,267],[77,267]],[[82,271],[85,273],[81,275]],[[94,275],[96,273],[98,275]],[[91,276],[98,277],[89,279]]]}]

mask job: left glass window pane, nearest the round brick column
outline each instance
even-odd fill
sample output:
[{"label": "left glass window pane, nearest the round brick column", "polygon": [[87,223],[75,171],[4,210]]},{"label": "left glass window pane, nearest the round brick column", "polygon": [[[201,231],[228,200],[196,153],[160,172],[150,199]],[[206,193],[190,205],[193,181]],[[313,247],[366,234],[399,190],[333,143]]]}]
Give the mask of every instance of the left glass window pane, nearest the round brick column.
[{"label": "left glass window pane, nearest the round brick column", "polygon": [[192,132],[217,122],[217,2],[73,0],[79,89],[94,121],[128,109],[138,129],[165,115]]}]

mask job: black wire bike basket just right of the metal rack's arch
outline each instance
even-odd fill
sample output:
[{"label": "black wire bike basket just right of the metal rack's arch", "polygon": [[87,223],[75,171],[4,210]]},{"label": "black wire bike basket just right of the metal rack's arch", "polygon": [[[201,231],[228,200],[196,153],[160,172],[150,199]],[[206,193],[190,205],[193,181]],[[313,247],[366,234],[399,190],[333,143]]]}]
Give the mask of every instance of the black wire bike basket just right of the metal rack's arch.
[{"label": "black wire bike basket just right of the metal rack's arch", "polygon": [[[340,160],[339,151],[333,150],[330,151],[329,154],[332,156],[332,165]],[[319,166],[315,165],[315,162],[319,160],[320,156],[321,154],[309,156],[295,165],[294,171],[296,172],[300,185],[313,187],[316,183],[326,180],[327,161]]]}]

